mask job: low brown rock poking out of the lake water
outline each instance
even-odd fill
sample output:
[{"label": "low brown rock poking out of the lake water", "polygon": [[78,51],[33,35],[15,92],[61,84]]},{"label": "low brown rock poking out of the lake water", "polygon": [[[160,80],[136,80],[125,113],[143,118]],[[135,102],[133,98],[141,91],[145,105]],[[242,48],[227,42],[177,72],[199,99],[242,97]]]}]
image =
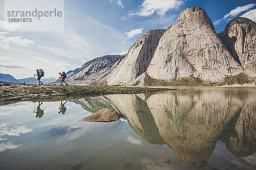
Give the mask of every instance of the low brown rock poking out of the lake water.
[{"label": "low brown rock poking out of the lake water", "polygon": [[90,121],[90,122],[113,122],[118,120],[119,114],[116,113],[116,111],[113,111],[109,108],[104,108],[102,110],[99,110],[90,116],[85,117],[82,119],[82,121]]}]

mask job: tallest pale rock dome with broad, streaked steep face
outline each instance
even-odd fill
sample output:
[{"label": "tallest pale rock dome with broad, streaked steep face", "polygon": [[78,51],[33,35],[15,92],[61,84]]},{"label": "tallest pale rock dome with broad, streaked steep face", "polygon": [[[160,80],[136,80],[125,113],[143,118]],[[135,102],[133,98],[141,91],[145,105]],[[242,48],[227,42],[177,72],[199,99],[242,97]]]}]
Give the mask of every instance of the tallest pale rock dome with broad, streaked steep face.
[{"label": "tallest pale rock dome with broad, streaked steep face", "polygon": [[218,80],[243,71],[226,50],[201,7],[186,8],[160,38],[147,74],[155,79]]}]

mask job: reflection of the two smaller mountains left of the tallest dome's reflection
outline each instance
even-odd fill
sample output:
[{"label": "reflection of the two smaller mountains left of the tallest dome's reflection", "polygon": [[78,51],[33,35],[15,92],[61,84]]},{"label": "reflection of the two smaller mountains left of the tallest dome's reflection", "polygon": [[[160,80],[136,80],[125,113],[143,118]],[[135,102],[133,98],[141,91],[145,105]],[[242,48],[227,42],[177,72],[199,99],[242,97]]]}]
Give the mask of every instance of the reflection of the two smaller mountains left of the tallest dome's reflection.
[{"label": "reflection of the two smaller mountains left of the tallest dome's reflection", "polygon": [[147,103],[136,94],[98,96],[77,101],[82,108],[93,113],[102,108],[111,108],[125,116],[131,128],[145,141],[152,144],[164,143]]}]

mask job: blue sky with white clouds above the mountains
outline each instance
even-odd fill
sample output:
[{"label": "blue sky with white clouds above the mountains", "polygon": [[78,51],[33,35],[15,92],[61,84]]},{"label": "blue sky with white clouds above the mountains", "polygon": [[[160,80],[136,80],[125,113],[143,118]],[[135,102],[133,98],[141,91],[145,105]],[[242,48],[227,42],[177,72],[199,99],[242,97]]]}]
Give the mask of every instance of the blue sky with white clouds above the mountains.
[{"label": "blue sky with white clouds above the mountains", "polygon": [[15,31],[22,26],[3,29],[0,0],[0,73],[21,79],[43,68],[46,78],[56,78],[93,58],[125,54],[145,32],[168,28],[190,6],[203,7],[217,33],[233,17],[256,21],[255,0],[65,0],[65,31]]}]

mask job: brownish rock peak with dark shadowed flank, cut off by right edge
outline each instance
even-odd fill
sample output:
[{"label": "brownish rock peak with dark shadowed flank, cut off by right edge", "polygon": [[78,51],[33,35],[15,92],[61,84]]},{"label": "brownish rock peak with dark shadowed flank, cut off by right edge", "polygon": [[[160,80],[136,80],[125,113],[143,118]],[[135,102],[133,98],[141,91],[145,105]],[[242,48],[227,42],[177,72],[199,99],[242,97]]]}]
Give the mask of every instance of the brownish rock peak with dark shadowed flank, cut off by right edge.
[{"label": "brownish rock peak with dark shadowed flank, cut off by right edge", "polygon": [[218,34],[237,62],[256,70],[256,23],[235,17]]}]

